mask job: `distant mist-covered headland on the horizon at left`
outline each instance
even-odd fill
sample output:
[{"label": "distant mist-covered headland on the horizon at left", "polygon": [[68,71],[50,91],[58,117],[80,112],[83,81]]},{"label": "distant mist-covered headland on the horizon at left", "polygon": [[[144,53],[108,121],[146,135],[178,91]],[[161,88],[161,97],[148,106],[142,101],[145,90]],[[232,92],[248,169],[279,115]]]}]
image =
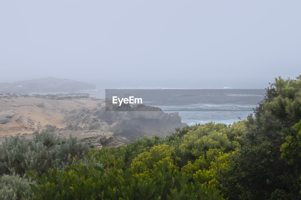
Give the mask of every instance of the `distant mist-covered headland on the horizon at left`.
[{"label": "distant mist-covered headland on the horizon at left", "polygon": [[35,92],[68,92],[81,89],[95,89],[95,84],[84,83],[76,80],[62,78],[36,78],[32,80],[18,81],[14,83],[0,83],[0,92],[25,93]]}]

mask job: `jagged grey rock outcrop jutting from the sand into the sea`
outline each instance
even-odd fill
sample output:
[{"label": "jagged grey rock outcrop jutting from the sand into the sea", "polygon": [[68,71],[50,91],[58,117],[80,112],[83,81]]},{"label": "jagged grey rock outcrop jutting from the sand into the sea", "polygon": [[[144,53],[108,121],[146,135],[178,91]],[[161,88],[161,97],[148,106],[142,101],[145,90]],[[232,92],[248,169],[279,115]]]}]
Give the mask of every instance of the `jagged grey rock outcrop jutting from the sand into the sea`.
[{"label": "jagged grey rock outcrop jutting from the sand into the sea", "polygon": [[[147,135],[166,136],[177,127],[186,126],[176,113],[164,113],[160,108],[145,105],[118,105],[106,102],[106,107],[77,108],[64,117],[64,130],[100,130],[113,132],[134,140]],[[109,104],[109,105],[108,105]],[[116,111],[119,110],[119,111]]]}]

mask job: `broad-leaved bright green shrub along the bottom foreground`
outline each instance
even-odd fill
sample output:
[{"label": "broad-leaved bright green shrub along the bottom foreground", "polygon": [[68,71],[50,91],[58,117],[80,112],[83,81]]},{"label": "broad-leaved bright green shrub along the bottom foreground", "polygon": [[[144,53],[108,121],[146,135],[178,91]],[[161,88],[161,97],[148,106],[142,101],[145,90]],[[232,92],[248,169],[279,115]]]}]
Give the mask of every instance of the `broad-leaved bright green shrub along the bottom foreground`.
[{"label": "broad-leaved bright green shrub along the bottom foreground", "polygon": [[157,175],[153,178],[135,174],[131,168],[123,172],[124,163],[113,156],[113,165],[106,162],[105,168],[89,170],[75,163],[68,172],[50,169],[42,177],[36,171],[26,171],[37,183],[30,185],[32,199],[223,199],[214,186],[189,183],[186,174],[169,170],[167,161],[155,164]]}]

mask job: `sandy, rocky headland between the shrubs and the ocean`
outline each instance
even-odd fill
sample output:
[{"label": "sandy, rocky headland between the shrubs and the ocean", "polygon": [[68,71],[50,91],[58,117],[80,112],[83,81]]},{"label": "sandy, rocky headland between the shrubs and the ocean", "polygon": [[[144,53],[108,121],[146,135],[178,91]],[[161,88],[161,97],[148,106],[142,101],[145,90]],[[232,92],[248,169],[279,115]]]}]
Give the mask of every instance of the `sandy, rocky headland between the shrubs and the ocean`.
[{"label": "sandy, rocky headland between the shrubs and the ocean", "polygon": [[[116,111],[116,106],[110,101],[93,98],[4,97],[0,99],[0,142],[9,135],[30,138],[35,130],[48,128],[60,137],[71,134],[78,140],[92,139],[98,147],[122,146],[144,135],[164,137],[175,128],[186,126],[178,113],[124,104]],[[108,137],[104,139],[103,136]]]}]

